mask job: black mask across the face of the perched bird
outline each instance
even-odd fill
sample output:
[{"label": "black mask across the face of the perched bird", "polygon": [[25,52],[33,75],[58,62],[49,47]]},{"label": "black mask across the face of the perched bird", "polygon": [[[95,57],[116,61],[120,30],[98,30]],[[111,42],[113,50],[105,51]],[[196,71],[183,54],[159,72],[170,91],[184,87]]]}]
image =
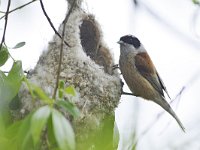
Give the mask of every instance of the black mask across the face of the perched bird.
[{"label": "black mask across the face of the perched bird", "polygon": [[128,43],[133,45],[135,48],[139,48],[141,43],[138,40],[138,38],[132,36],[132,35],[126,35],[120,38],[120,41],[123,41],[124,43]]}]

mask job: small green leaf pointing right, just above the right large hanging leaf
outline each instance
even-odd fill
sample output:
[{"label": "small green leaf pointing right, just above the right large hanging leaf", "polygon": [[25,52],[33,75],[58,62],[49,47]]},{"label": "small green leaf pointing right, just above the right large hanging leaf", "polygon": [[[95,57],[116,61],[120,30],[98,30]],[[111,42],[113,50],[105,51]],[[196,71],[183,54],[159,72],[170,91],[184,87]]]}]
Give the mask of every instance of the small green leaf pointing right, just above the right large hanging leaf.
[{"label": "small green leaf pointing right, just above the right large hanging leaf", "polygon": [[66,100],[57,100],[56,105],[62,107],[65,111],[69,112],[73,117],[78,117],[79,109],[71,102]]}]

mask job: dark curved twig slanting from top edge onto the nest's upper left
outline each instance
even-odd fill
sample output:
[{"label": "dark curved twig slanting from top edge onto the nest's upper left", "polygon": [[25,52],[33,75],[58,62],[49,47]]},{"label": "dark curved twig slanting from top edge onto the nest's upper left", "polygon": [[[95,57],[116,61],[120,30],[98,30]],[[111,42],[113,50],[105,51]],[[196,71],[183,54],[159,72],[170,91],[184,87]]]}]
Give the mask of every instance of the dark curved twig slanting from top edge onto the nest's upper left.
[{"label": "dark curved twig slanting from top edge onto the nest's upper left", "polygon": [[[53,31],[55,32],[55,34],[62,40],[63,37],[60,35],[60,33],[58,33],[58,31],[57,31],[56,28],[54,27],[54,25],[53,25],[51,19],[50,19],[49,16],[47,15],[47,12],[46,12],[46,10],[45,10],[45,8],[44,8],[44,4],[43,4],[42,0],[40,0],[40,5],[41,5],[42,11],[43,11],[45,17],[47,18],[47,21],[49,22],[51,28],[53,29]],[[65,43],[68,47],[70,47],[70,45],[69,45],[65,40],[64,40],[64,43]]]}]

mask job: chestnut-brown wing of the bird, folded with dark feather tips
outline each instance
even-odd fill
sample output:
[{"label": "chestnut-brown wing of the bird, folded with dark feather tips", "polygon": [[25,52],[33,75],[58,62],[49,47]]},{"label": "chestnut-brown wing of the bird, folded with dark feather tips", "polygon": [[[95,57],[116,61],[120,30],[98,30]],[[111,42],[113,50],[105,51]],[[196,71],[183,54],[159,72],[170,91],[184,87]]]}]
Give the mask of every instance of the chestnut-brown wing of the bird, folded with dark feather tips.
[{"label": "chestnut-brown wing of the bird, folded with dark feather tips", "polygon": [[163,97],[163,90],[165,90],[168,95],[166,87],[147,53],[138,53],[135,56],[135,66],[138,72],[154,87],[155,90],[157,90]]}]

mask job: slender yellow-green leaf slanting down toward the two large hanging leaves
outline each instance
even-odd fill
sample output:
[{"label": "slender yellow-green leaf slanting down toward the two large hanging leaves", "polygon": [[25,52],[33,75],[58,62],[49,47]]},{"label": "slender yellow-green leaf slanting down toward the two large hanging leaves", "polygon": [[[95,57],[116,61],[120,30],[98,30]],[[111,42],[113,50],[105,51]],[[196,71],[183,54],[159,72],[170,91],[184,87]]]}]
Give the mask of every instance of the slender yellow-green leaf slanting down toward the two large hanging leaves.
[{"label": "slender yellow-green leaf slanting down toward the two large hanging leaves", "polygon": [[54,100],[51,99],[49,96],[46,95],[46,93],[38,86],[30,84],[31,89],[33,90],[33,93],[40,98],[43,102],[47,104],[53,104]]}]

